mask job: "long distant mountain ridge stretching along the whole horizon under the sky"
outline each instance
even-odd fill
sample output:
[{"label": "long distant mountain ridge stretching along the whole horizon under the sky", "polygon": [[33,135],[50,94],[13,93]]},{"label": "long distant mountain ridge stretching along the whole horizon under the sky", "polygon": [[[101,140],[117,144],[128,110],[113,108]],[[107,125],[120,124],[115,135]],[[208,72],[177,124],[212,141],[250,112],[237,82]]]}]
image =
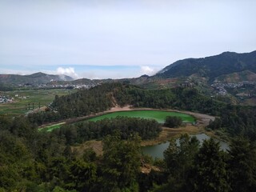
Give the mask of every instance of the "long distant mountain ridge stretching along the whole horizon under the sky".
[{"label": "long distant mountain ridge stretching along the whole horizon under the sky", "polygon": [[[225,51],[222,54],[214,56],[207,56],[205,58],[185,58],[178,60],[169,66],[164,67],[152,76],[142,75],[137,78],[121,78],[121,79],[88,79],[79,78],[73,79],[64,74],[44,74],[38,72],[35,74],[0,74],[1,83],[10,85],[20,84],[42,84],[42,83],[65,83],[70,82],[74,84],[98,84],[103,82],[130,82],[132,84],[150,84],[152,82],[159,82],[159,84],[168,84],[170,82],[162,82],[162,79],[174,79],[180,82],[179,79],[186,78],[203,78],[208,84],[214,81],[226,80],[229,76],[236,76],[238,81],[247,81],[252,79],[254,81],[254,74],[256,74],[256,50],[249,53],[236,53]],[[243,77],[239,77],[243,75]],[[250,77],[250,78],[246,78]],[[253,78],[252,78],[253,77]],[[173,81],[173,82],[175,82]],[[176,85],[174,83],[174,85]]]}]

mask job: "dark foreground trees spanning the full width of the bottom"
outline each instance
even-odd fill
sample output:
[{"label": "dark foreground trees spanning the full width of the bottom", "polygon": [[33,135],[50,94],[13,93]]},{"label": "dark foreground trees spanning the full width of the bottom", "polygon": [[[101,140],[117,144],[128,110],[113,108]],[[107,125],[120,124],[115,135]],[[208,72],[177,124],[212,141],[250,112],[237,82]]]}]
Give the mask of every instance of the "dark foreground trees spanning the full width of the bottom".
[{"label": "dark foreground trees spanning the full width of the bottom", "polygon": [[[63,129],[63,130],[62,130]],[[1,117],[1,191],[254,191],[256,146],[235,137],[230,150],[214,139],[199,145],[187,134],[170,141],[160,170],[143,174],[150,162],[142,156],[141,138],[122,139],[115,130],[103,138],[103,155],[91,149],[78,156],[71,150],[66,128],[38,132],[26,118]],[[63,134],[62,134],[63,132]],[[153,162],[152,162],[153,163]]]}]

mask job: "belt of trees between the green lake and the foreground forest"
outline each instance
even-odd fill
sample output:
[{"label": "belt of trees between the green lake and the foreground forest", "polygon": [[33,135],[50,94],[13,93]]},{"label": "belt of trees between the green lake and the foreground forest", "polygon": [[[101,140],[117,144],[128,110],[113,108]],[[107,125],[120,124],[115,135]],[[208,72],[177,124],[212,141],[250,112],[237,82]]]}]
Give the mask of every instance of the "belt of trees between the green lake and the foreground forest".
[{"label": "belt of trees between the green lake and the foreground forest", "polygon": [[114,134],[117,130],[122,139],[127,139],[133,134],[138,134],[142,139],[150,139],[156,138],[162,128],[155,120],[117,117],[105,118],[97,122],[73,123],[54,130],[52,134],[61,135],[66,138],[66,144],[72,145],[91,139],[102,139],[108,134]]}]

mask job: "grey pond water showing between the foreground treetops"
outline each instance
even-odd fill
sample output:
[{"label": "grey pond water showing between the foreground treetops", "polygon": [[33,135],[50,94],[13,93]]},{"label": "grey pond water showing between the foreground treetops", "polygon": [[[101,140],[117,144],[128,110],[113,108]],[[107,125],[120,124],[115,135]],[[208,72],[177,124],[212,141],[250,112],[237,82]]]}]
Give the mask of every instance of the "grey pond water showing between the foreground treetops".
[{"label": "grey pond water showing between the foreground treetops", "polygon": [[[194,136],[196,136],[198,138],[198,140],[201,144],[205,139],[210,138],[206,134],[195,134]],[[221,150],[227,150],[229,148],[229,146],[226,142],[222,142],[219,140],[217,140],[217,141],[220,144]],[[177,142],[178,142],[178,139],[177,139]],[[163,152],[168,148],[169,144],[170,144],[170,142],[164,142],[164,143],[154,145],[154,146],[142,146],[142,153],[148,154],[152,158],[163,158]]]}]

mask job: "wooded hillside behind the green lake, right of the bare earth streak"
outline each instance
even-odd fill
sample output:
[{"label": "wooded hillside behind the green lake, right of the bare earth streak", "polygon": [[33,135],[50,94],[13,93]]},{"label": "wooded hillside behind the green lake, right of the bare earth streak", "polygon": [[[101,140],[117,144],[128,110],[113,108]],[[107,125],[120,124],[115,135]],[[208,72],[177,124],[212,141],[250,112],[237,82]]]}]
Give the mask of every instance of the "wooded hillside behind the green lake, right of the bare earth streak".
[{"label": "wooded hillside behind the green lake, right of the bare earth streak", "polygon": [[118,88],[114,90],[114,98],[120,106],[130,104],[134,107],[190,110],[217,115],[226,105],[207,98],[193,88],[176,87],[164,90],[142,90],[134,86]]}]

